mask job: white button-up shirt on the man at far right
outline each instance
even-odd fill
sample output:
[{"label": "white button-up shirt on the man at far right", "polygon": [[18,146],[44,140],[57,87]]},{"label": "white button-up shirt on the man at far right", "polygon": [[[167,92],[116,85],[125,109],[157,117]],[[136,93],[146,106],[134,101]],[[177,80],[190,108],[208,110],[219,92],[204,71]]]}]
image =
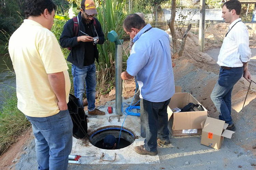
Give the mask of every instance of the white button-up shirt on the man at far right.
[{"label": "white button-up shirt on the man at far right", "polygon": [[226,67],[242,67],[243,63],[250,61],[252,55],[247,27],[241,22],[241,18],[238,18],[229,25],[229,29],[231,30],[224,38],[219,51],[217,64]]}]

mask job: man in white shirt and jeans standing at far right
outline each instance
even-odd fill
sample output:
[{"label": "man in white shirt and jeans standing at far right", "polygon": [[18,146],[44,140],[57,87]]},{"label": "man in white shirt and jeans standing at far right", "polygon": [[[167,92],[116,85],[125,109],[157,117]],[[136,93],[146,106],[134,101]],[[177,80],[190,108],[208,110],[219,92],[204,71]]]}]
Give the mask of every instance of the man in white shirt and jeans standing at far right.
[{"label": "man in white shirt and jeans standing at far right", "polygon": [[219,119],[228,123],[228,130],[235,129],[231,118],[233,86],[242,76],[251,81],[251,74],[248,71],[248,61],[251,58],[249,35],[247,27],[239,18],[240,12],[241,3],[238,0],[230,0],[222,5],[222,17],[230,25],[219,51],[217,64],[221,68],[211,94],[211,99],[220,113]]}]

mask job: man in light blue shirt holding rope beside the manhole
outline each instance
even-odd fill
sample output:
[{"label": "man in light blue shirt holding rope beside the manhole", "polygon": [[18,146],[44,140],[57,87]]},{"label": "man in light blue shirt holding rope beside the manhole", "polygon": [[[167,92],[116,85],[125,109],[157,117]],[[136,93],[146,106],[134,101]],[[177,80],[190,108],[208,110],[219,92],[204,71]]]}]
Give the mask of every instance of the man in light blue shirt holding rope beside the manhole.
[{"label": "man in light blue shirt holding rope beside the manhole", "polygon": [[141,92],[140,118],[146,133],[144,145],[136,146],[135,151],[156,155],[157,142],[170,144],[167,106],[175,90],[169,35],[146,25],[137,14],[128,15],[123,28],[134,45],[121,78],[137,77]]}]

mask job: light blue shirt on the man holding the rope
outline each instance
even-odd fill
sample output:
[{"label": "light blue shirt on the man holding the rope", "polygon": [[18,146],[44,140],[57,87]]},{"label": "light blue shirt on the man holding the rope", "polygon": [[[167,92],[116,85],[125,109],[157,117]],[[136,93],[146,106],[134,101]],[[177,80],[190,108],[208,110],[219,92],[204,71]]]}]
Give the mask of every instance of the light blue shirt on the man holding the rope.
[{"label": "light blue shirt on the man holding the rope", "polygon": [[140,98],[164,102],[175,92],[170,40],[165,31],[150,28],[147,24],[133,38],[126,71],[137,77]]}]

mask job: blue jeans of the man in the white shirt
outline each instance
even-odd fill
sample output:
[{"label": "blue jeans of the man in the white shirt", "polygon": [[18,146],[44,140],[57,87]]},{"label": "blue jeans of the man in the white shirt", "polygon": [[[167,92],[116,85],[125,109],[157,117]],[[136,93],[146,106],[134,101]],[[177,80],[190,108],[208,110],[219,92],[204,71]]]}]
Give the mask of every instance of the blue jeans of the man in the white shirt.
[{"label": "blue jeans of the man in the white shirt", "polygon": [[219,120],[231,125],[231,93],[234,85],[243,76],[243,67],[219,70],[219,79],[211,94],[211,99],[219,112]]}]

